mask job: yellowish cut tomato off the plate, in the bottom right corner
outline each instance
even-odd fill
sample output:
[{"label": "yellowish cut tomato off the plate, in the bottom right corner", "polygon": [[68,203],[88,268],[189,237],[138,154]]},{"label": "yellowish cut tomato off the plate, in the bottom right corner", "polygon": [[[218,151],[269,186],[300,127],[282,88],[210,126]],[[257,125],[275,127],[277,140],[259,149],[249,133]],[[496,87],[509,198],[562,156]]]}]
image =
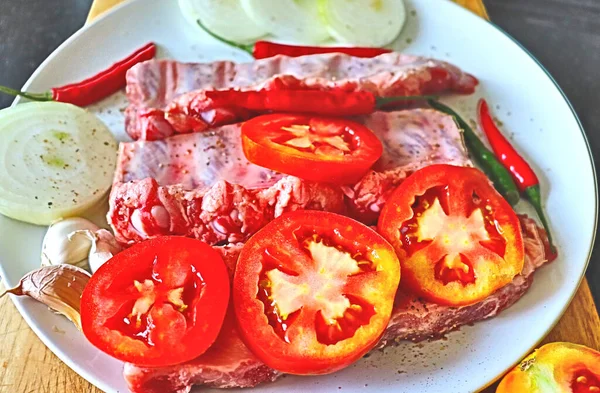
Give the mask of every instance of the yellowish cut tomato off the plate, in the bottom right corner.
[{"label": "yellowish cut tomato off the plate, in the bottom right corner", "polygon": [[508,373],[496,393],[598,393],[600,352],[570,343],[546,344]]}]

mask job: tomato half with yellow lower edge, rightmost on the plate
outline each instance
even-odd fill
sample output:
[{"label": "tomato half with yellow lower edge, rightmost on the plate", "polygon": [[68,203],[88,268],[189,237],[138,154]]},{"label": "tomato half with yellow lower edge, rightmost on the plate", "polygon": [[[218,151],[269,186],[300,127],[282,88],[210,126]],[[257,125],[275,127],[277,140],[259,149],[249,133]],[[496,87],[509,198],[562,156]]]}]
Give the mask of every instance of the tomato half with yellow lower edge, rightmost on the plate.
[{"label": "tomato half with yellow lower edge, rightmost on the plate", "polygon": [[479,302],[523,269],[519,219],[475,168],[415,172],[388,199],[378,231],[396,249],[403,284],[439,304]]}]

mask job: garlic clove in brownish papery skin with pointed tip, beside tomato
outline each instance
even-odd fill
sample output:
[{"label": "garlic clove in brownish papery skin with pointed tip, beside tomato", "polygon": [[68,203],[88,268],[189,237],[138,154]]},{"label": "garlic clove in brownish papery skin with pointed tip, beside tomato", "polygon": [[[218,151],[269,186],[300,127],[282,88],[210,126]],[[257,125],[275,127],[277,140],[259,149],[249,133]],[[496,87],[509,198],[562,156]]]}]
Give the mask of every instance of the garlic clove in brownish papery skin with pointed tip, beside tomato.
[{"label": "garlic clove in brownish papery skin with pointed tip, beside tomato", "polygon": [[81,330],[81,295],[90,274],[72,265],[44,266],[27,273],[16,287],[0,294],[29,296],[63,314]]}]

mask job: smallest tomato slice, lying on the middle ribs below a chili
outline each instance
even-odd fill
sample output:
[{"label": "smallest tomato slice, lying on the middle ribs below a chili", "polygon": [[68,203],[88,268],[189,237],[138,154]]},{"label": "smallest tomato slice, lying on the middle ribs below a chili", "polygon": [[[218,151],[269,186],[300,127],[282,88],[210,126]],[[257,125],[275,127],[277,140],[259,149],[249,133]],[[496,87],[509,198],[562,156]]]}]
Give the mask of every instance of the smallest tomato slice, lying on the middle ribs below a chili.
[{"label": "smallest tomato slice, lying on the middle ribs below a chili", "polygon": [[242,125],[250,162],[305,180],[349,184],[381,157],[381,142],[365,126],[345,120],[273,114]]}]

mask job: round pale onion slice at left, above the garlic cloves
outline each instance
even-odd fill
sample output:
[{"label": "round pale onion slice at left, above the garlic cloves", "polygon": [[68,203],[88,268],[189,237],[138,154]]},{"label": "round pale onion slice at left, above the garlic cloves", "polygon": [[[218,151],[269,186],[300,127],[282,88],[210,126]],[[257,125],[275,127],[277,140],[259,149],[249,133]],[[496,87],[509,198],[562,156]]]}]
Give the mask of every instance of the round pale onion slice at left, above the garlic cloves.
[{"label": "round pale onion slice at left, above the garlic cloves", "polygon": [[0,213],[49,225],[79,215],[109,190],[117,143],[93,114],[31,102],[0,111]]}]

